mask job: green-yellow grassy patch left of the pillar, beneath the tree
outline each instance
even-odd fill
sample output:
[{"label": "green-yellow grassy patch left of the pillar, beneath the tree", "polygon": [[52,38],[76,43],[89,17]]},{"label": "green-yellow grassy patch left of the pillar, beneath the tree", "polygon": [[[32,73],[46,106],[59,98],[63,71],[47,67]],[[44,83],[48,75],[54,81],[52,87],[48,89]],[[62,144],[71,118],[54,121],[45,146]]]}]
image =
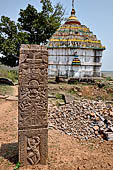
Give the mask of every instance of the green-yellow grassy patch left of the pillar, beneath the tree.
[{"label": "green-yellow grassy patch left of the pillar, beneath the tree", "polygon": [[0,77],[8,78],[8,79],[12,80],[13,82],[17,82],[18,81],[18,71],[0,69]]}]

